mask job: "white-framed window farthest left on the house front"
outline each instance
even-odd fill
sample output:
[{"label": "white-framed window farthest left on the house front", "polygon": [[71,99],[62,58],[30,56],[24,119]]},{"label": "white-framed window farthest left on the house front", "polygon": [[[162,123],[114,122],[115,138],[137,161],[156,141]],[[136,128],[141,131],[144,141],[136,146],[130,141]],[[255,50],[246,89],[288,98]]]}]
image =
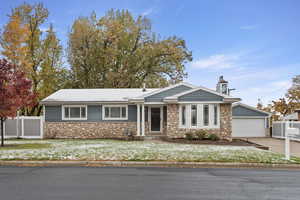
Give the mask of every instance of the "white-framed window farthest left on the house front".
[{"label": "white-framed window farthest left on the house front", "polygon": [[87,120],[86,106],[69,105],[63,106],[63,120]]}]

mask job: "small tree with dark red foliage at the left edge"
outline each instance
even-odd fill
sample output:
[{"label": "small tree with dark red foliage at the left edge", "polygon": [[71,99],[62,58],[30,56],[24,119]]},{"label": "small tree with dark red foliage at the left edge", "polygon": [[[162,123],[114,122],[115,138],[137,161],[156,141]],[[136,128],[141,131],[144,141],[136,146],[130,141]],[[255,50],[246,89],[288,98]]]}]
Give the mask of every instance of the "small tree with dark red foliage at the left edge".
[{"label": "small tree with dark red foliage at the left edge", "polygon": [[19,109],[33,105],[35,97],[31,81],[20,71],[20,67],[0,59],[1,146],[4,145],[4,121],[7,117],[15,117]]}]

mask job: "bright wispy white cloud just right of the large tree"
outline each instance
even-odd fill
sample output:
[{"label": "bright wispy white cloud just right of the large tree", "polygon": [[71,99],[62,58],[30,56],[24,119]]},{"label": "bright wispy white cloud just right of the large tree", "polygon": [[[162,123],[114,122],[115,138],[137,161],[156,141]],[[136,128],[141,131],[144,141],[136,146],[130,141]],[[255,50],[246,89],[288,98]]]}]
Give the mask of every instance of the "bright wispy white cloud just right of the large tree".
[{"label": "bright wispy white cloud just right of the large tree", "polygon": [[236,67],[236,63],[240,59],[241,55],[239,54],[216,54],[211,55],[206,58],[195,60],[191,63],[193,68],[197,69],[211,69],[211,70],[220,70],[220,69],[229,69]]}]

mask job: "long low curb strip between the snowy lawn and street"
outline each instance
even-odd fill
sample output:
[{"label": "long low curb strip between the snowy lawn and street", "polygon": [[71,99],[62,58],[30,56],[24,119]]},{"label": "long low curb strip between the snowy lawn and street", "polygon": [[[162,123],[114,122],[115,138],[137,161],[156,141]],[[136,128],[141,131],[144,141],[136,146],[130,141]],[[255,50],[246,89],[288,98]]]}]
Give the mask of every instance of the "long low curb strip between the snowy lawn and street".
[{"label": "long low curb strip between the snowy lawn and street", "polygon": [[86,166],[86,167],[180,167],[180,168],[272,168],[299,169],[300,164],[167,162],[167,161],[0,161],[0,166]]}]

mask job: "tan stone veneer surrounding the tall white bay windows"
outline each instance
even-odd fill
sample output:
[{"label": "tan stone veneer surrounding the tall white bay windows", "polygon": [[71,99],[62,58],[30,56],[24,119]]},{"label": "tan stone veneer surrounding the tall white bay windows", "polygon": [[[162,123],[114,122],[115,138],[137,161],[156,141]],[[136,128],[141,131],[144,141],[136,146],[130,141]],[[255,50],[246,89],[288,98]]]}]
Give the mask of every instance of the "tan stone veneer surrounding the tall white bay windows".
[{"label": "tan stone veneer surrounding the tall white bay windows", "polygon": [[[199,129],[179,128],[179,105],[168,104],[167,106],[167,137],[183,138],[186,132],[197,131]],[[231,104],[220,104],[220,128],[205,129],[209,133],[218,135],[222,139],[231,140]]]}]

